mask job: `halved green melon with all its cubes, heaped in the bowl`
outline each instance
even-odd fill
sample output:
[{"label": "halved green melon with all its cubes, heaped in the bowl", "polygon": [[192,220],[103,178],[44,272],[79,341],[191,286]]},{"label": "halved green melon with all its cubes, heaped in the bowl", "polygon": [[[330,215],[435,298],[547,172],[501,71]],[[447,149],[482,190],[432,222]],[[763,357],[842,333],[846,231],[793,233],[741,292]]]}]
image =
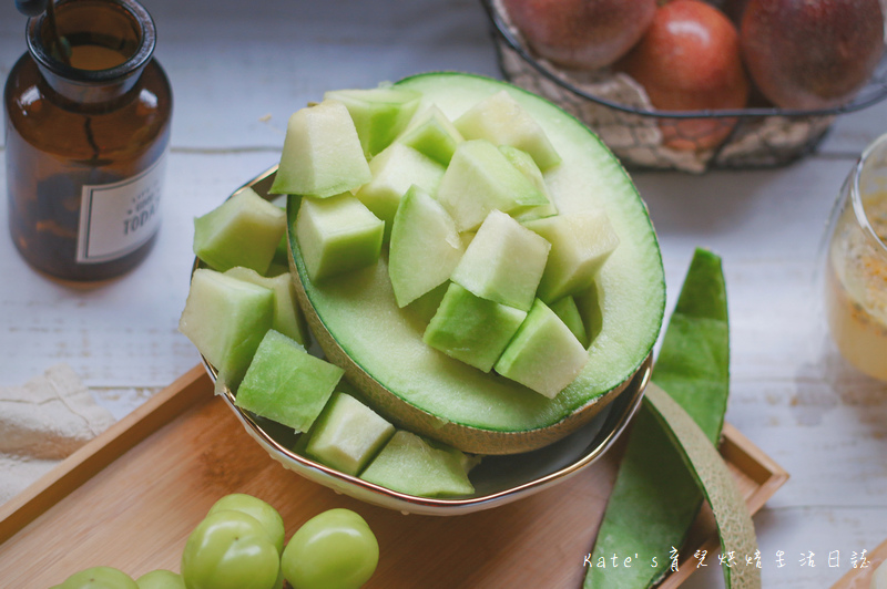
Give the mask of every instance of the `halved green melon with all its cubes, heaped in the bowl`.
[{"label": "halved green melon with all its cubes, heaped in the bowl", "polygon": [[245,188],[196,219],[180,329],[220,391],[345,475],[470,495],[471,455],[588,423],[659,333],[659,247],[626,174],[508,84],[328,92],[290,117],[271,194],[286,211]]}]

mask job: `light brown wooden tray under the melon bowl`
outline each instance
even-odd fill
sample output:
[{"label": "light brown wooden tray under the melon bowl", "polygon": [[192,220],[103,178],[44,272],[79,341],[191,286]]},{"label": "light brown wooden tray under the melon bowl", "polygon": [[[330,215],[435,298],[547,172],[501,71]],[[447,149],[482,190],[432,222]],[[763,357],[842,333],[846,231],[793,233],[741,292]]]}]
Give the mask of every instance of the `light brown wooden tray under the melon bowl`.
[{"label": "light brown wooden tray under the melon bowl", "polygon": [[[404,516],[363,504],[281,467],[242,428],[202,366],[195,366],[20,496],[0,506],[6,587],[45,588],[91,566],[137,577],[179,570],[185,540],[210,506],[248,493],[281,512],[287,538],[322,510],[348,507],[369,523],[380,560],[367,587],[579,588],[621,446],[563,484],[495,509],[458,517]],[[788,475],[734,427],[721,452],[750,509]],[[123,457],[123,459],[116,459]],[[702,514],[684,558],[708,544]],[[694,570],[681,567],[662,587]]]}]

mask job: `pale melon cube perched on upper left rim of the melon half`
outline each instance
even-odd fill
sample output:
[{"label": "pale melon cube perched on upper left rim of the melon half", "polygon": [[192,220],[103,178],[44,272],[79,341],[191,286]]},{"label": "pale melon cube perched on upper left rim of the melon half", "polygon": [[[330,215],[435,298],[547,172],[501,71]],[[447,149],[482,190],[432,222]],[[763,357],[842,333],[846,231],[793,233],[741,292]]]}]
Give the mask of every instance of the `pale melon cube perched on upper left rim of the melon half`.
[{"label": "pale melon cube perched on upper left rim of the melon half", "polygon": [[343,103],[325,100],[289,117],[272,194],[325,198],[370,179],[364,147]]}]

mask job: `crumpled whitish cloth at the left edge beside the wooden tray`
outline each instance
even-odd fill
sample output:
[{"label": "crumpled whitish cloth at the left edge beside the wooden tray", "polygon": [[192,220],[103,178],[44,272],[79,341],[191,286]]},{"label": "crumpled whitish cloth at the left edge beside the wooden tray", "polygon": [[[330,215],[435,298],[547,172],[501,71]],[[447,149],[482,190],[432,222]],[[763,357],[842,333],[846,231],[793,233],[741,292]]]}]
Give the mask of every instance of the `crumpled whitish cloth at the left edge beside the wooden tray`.
[{"label": "crumpled whitish cloth at the left edge beside the wooden tray", "polygon": [[67,364],[0,386],[0,504],[114,423]]}]

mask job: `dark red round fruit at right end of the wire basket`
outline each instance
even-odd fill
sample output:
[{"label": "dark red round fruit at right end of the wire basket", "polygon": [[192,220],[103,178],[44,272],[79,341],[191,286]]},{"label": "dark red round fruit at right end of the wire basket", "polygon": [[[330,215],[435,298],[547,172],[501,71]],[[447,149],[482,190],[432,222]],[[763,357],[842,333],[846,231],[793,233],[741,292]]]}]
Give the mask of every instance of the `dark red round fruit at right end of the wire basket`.
[{"label": "dark red round fruit at right end of the wire basket", "polygon": [[741,43],[761,93],[784,108],[850,100],[884,52],[878,0],[750,0]]}]

